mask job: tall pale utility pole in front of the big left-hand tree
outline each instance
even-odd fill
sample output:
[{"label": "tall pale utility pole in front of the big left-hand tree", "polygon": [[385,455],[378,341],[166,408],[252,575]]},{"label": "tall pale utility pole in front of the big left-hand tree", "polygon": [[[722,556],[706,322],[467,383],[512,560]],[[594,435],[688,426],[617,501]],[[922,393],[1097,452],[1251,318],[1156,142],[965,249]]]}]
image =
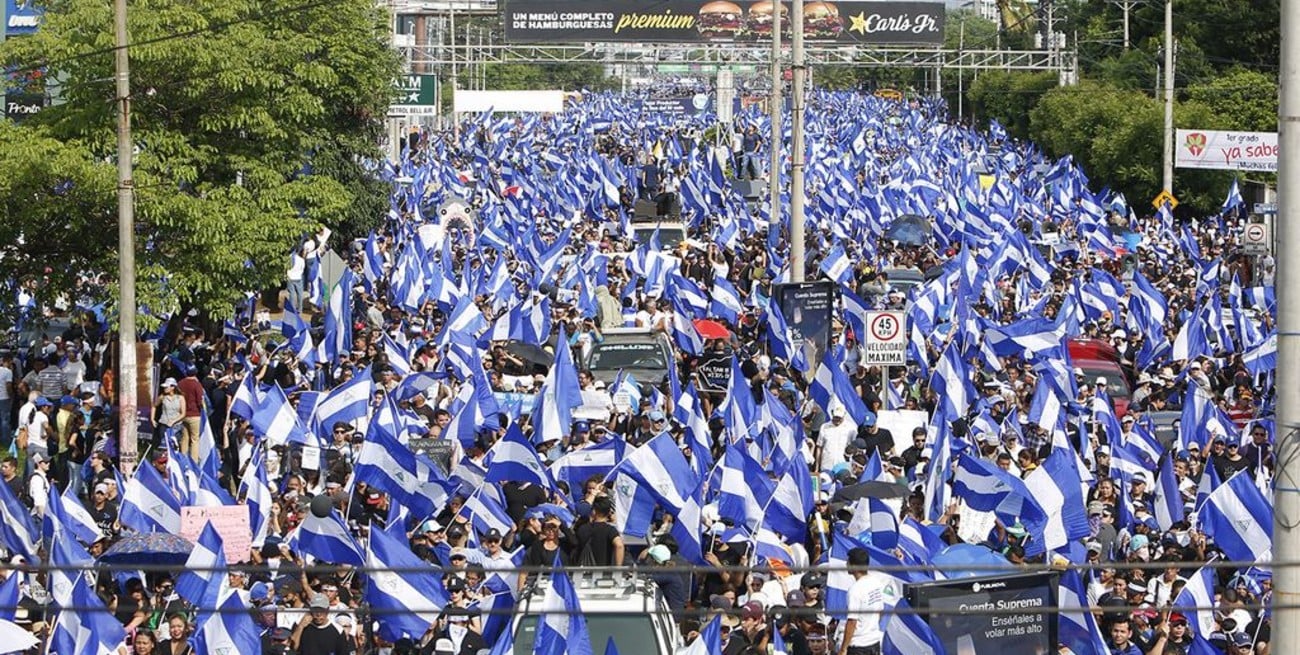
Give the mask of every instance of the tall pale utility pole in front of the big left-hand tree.
[{"label": "tall pale utility pole in front of the big left-hand tree", "polygon": [[117,78],[117,452],[122,476],[139,459],[135,409],[135,182],[131,159],[131,73],[126,44],[126,0],[113,1],[113,69]]}]

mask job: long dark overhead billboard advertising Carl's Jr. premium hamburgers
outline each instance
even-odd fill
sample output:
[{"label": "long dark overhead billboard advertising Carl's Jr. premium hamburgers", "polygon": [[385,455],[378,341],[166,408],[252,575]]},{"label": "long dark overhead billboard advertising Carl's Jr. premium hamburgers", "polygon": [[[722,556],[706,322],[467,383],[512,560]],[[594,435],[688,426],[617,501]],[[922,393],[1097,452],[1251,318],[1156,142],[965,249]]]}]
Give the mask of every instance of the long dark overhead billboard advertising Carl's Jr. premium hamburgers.
[{"label": "long dark overhead billboard advertising Carl's Jr. premium hamburgers", "polygon": [[[790,3],[783,3],[783,38]],[[507,0],[506,40],[514,43],[771,42],[772,0]],[[845,45],[940,45],[942,3],[810,1],[803,38]]]}]

